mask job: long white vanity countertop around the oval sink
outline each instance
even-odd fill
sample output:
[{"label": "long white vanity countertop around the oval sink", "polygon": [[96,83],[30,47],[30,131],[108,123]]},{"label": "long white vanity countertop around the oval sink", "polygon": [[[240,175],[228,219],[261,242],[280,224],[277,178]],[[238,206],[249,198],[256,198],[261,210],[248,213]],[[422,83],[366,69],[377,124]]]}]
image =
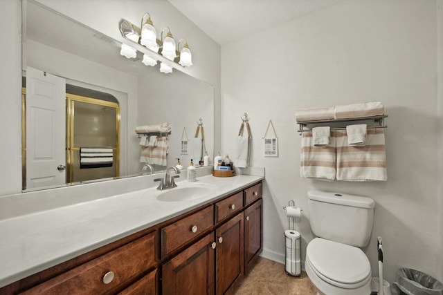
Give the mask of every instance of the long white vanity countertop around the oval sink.
[{"label": "long white vanity countertop around the oval sink", "polygon": [[[156,196],[162,191],[151,187],[4,218],[0,220],[0,287],[228,196],[262,179],[264,176],[215,178],[208,175],[198,178],[197,182],[177,182],[178,188],[213,187],[207,196],[186,202],[157,200]],[[174,189],[168,191],[171,190]]]}]

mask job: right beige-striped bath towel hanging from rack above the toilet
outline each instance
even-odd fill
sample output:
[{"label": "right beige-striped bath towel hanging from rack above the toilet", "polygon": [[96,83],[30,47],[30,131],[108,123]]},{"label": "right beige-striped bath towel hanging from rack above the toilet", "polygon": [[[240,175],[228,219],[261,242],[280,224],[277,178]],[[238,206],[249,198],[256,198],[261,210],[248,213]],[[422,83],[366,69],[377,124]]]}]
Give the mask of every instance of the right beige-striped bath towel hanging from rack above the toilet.
[{"label": "right beige-striped bath towel hanging from rack above the toilet", "polygon": [[350,146],[345,130],[336,131],[337,180],[367,181],[388,179],[385,133],[368,129],[365,146]]}]

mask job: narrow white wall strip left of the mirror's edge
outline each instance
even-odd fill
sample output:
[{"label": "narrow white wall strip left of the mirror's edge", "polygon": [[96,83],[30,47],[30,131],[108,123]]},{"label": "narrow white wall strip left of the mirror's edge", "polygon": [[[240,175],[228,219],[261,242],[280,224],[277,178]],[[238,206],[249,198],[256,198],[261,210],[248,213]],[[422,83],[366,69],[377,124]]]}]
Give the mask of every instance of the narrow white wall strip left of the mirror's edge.
[{"label": "narrow white wall strip left of the mirror's edge", "polygon": [[0,1],[0,195],[21,190],[21,3]]}]

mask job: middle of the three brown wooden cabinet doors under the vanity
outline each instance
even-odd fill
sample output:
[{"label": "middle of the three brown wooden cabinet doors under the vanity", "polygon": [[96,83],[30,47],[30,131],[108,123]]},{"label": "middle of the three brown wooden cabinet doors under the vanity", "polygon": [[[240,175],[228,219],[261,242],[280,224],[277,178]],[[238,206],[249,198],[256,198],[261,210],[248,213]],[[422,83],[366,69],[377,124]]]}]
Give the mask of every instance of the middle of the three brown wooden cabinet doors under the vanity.
[{"label": "middle of the three brown wooden cabinet doors under the vanity", "polygon": [[243,212],[221,225],[215,233],[215,290],[217,294],[233,294],[244,274]]}]

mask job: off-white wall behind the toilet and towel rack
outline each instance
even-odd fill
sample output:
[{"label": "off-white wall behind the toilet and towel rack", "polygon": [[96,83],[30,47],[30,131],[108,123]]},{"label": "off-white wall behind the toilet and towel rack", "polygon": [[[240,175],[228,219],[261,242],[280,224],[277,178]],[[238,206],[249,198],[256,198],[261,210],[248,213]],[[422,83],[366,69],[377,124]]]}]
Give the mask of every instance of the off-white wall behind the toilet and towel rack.
[{"label": "off-white wall behind the toilet and towel rack", "polygon": [[[251,118],[251,164],[266,167],[264,256],[284,259],[284,210],[305,209],[298,222],[302,257],[313,238],[307,191],[370,196],[374,227],[363,249],[377,275],[383,238],[386,278],[412,267],[442,278],[437,246],[437,18],[435,0],[352,0],[221,48],[222,151],[235,155],[239,116]],[[380,100],[386,106],[387,182],[300,178],[298,108]],[[262,156],[272,120],[279,158]],[[441,207],[441,204],[440,204]],[[440,210],[441,211],[441,210]],[[440,212],[441,216],[441,212]],[[304,260],[304,258],[303,258]]]}]

